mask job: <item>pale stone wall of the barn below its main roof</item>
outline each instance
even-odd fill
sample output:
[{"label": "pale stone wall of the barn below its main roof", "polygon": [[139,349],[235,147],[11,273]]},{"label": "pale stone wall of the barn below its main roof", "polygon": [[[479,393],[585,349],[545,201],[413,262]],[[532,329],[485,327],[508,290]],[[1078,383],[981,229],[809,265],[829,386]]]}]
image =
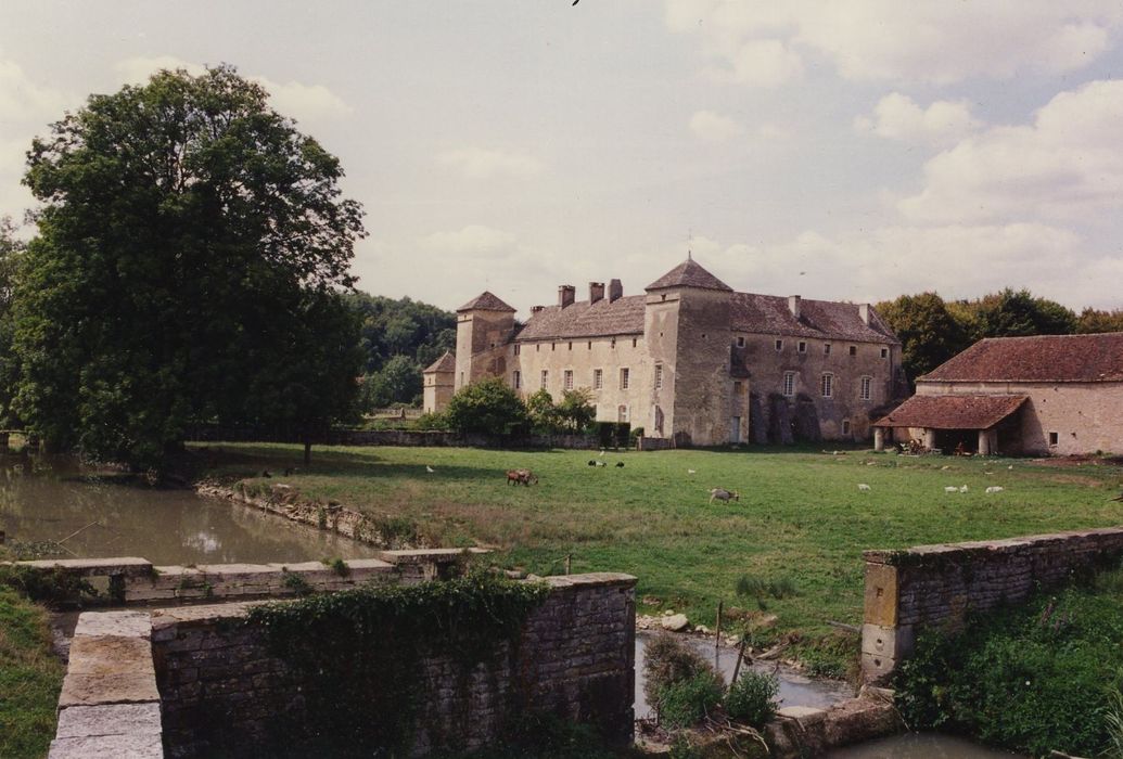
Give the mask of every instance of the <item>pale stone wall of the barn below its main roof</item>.
[{"label": "pale stone wall of the barn below its main roof", "polygon": [[[917,382],[917,395],[1026,395],[1016,429],[998,431],[1001,454],[1069,456],[1123,451],[1123,383]],[[1050,433],[1056,436],[1051,441]]]}]

